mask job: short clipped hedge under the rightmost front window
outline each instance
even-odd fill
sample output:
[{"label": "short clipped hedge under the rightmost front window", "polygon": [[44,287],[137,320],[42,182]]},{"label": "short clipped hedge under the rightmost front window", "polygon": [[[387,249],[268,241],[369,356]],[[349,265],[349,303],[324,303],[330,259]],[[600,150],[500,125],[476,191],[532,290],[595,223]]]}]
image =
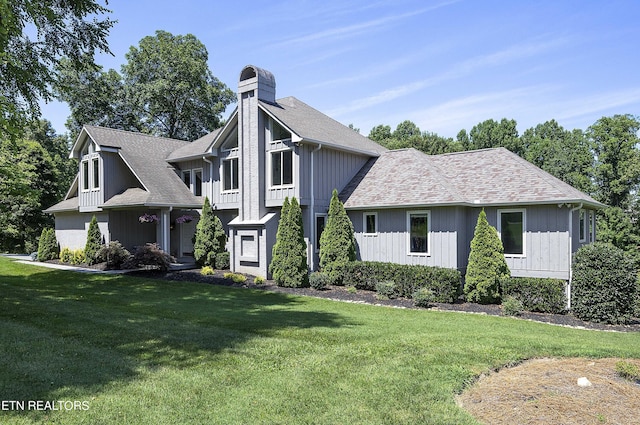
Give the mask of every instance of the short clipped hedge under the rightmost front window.
[{"label": "short clipped hedge under the rightmost front window", "polygon": [[500,279],[500,287],[503,299],[517,299],[526,311],[557,314],[567,308],[565,281],[561,279],[507,277]]}]

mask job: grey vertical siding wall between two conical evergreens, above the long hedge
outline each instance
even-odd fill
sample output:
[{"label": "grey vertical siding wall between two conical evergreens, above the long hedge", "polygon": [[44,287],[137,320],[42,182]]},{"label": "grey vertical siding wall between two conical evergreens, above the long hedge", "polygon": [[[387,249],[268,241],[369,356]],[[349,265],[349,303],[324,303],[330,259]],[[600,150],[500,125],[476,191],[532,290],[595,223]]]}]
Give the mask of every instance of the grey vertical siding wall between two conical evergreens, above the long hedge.
[{"label": "grey vertical siding wall between two conical evergreens, above the long hedge", "polygon": [[[409,253],[407,213],[429,211],[429,252],[427,255]],[[375,212],[378,232],[365,234],[363,215]],[[348,211],[353,223],[358,251],[362,261],[381,261],[398,264],[415,264],[458,268],[457,228],[460,220],[458,208],[410,208]]]}]

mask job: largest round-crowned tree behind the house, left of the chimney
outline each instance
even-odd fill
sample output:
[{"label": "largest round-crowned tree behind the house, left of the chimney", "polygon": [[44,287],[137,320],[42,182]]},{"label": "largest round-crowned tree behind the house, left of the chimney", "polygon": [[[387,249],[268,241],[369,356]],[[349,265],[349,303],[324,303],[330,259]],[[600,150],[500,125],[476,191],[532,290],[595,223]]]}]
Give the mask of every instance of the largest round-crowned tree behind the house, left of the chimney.
[{"label": "largest round-crowned tree behind the house, left of the chimney", "polygon": [[125,56],[127,104],[151,134],[195,140],[221,126],[235,95],[213,76],[207,49],[195,36],[156,31]]}]

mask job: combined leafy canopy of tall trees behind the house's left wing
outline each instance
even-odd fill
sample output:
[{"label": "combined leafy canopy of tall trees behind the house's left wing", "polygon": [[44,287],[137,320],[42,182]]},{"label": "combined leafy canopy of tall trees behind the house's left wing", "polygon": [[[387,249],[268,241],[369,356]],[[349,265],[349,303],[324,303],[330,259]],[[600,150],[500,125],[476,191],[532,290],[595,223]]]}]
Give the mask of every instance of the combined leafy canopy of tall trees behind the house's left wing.
[{"label": "combined leafy canopy of tall trees behind the house's left wing", "polygon": [[191,141],[220,127],[222,113],[235,101],[192,34],[156,31],[125,57],[122,74],[101,67],[76,72],[61,64],[57,93],[71,109],[72,132],[93,124]]}]

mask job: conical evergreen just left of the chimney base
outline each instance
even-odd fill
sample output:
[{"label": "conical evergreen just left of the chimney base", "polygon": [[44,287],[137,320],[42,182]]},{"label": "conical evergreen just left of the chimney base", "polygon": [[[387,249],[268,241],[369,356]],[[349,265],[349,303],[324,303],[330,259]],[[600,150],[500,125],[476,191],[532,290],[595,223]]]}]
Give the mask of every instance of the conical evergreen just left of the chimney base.
[{"label": "conical evergreen just left of the chimney base", "polygon": [[200,221],[193,241],[193,256],[199,266],[216,267],[216,255],[224,252],[227,234],[222,222],[213,213],[209,197],[204,198]]}]

